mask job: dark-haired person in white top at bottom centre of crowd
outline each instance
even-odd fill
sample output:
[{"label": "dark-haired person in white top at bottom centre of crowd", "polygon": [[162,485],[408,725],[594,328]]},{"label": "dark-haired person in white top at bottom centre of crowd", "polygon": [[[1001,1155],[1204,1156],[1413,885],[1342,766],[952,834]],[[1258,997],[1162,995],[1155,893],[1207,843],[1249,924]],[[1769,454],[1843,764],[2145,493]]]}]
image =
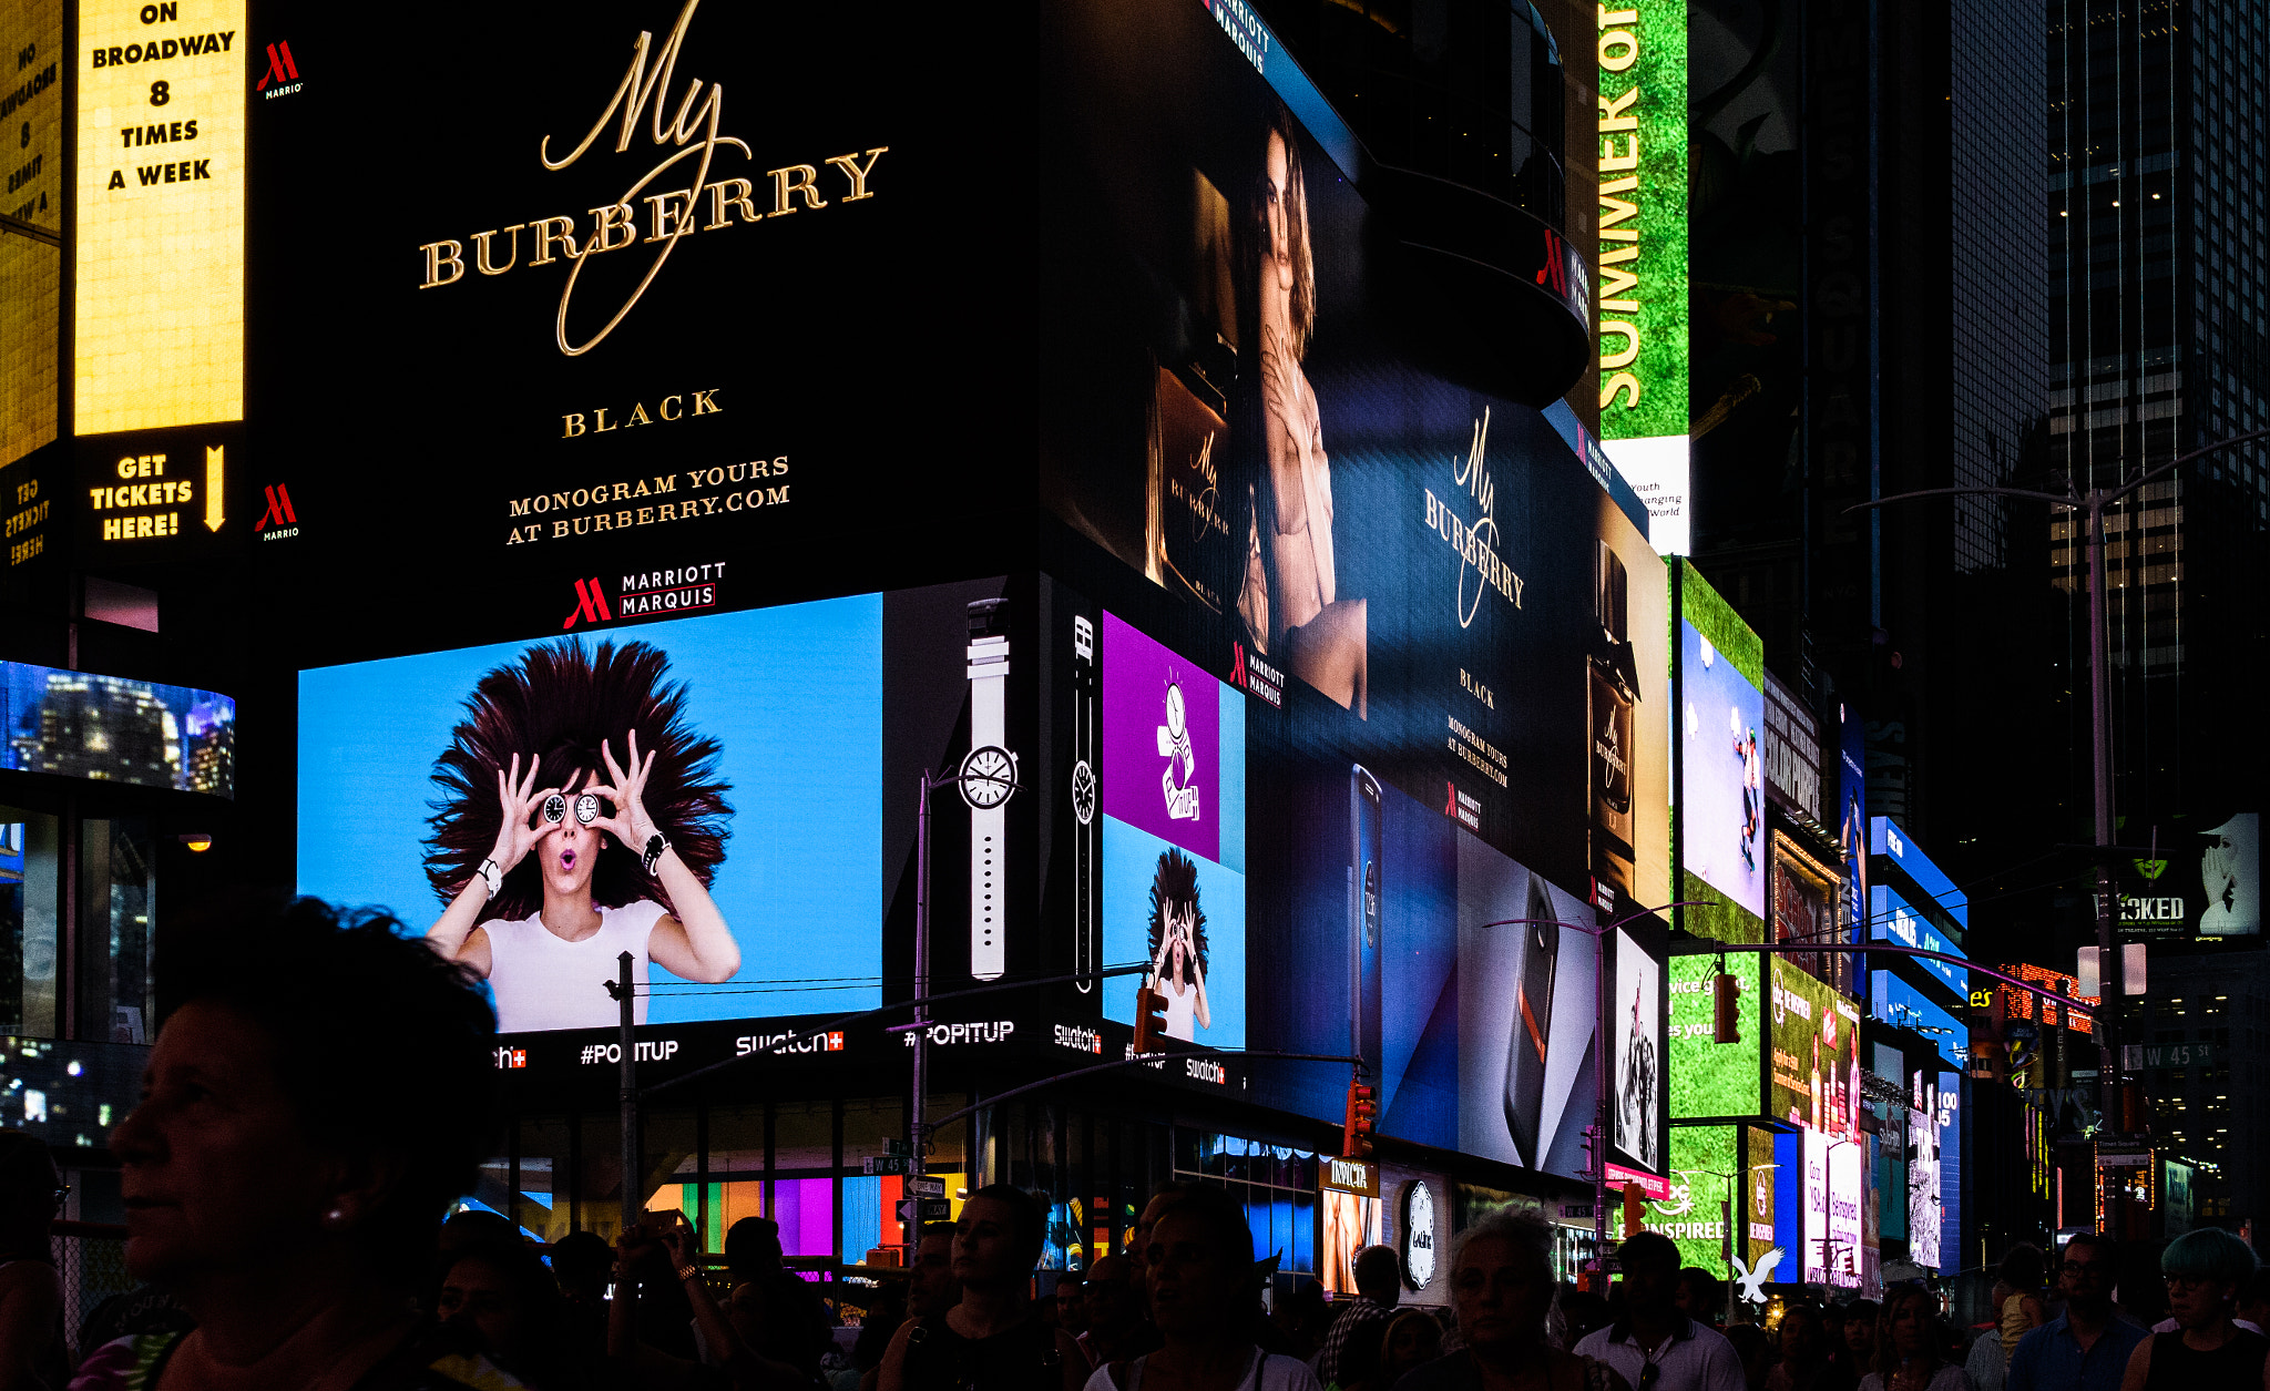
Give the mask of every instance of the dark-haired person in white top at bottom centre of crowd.
[{"label": "dark-haired person in white top at bottom centre of crowd", "polygon": [[1253,1343],[1253,1228],[1246,1207],[1224,1189],[1178,1194],[1144,1244],[1144,1287],[1162,1346],[1133,1362],[1105,1362],[1087,1391],[1317,1391],[1296,1357]]}]

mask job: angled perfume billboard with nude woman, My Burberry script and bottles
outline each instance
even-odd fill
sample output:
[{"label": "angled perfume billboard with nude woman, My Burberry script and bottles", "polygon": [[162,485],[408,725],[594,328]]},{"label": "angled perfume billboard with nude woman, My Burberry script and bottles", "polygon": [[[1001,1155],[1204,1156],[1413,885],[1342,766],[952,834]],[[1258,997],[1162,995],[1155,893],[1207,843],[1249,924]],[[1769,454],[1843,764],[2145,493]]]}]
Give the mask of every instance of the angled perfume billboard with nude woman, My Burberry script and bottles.
[{"label": "angled perfume billboard with nude woman, My Burberry script and bottles", "polygon": [[1092,0],[1044,50],[1037,236],[1092,254],[1037,268],[1042,563],[1342,776],[1612,917],[1664,903],[1664,560],[1537,408],[1387,327],[1380,213],[1283,52]]}]

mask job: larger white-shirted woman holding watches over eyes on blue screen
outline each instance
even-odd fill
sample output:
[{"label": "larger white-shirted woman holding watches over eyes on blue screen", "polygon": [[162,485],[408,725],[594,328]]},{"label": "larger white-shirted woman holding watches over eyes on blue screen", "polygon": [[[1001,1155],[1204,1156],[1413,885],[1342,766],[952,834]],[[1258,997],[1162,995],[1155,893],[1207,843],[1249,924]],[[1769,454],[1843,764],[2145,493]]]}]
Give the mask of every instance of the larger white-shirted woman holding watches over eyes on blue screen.
[{"label": "larger white-shirted woman holding watches over eyes on blue screen", "polygon": [[740,969],[708,894],[733,812],[720,751],[667,674],[645,642],[533,647],[479,681],[434,765],[427,880],[447,910],[427,942],[488,980],[497,1032],[611,1028],[624,951],[636,987],[649,962],[708,985]]}]

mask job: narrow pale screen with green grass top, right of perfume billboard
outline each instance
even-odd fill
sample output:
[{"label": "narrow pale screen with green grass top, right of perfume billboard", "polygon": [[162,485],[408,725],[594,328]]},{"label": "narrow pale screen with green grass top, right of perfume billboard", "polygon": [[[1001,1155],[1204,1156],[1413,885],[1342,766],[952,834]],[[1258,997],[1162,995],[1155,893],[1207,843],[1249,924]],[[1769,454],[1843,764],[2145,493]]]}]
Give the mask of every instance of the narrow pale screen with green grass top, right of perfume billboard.
[{"label": "narrow pale screen with green grass top, right of perfume billboard", "polygon": [[[1680,560],[1675,570],[1680,867],[1764,924],[1764,644],[1691,563]],[[1707,917],[1687,912],[1689,919]],[[1691,924],[1691,930],[1702,926]]]}]

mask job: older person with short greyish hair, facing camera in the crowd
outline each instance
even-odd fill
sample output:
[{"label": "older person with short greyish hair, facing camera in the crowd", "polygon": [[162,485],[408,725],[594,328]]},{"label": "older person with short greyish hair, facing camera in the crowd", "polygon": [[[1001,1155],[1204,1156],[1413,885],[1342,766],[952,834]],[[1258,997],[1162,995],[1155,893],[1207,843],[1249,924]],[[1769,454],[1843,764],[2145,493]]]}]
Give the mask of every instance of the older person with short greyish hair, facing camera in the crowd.
[{"label": "older person with short greyish hair, facing camera in the crowd", "polygon": [[1498,1209],[1457,1234],[1451,1300],[1462,1346],[1394,1391],[1630,1391],[1605,1362],[1546,1341],[1553,1232],[1535,1214]]}]

